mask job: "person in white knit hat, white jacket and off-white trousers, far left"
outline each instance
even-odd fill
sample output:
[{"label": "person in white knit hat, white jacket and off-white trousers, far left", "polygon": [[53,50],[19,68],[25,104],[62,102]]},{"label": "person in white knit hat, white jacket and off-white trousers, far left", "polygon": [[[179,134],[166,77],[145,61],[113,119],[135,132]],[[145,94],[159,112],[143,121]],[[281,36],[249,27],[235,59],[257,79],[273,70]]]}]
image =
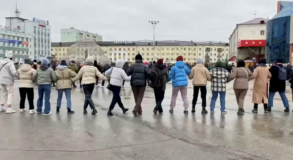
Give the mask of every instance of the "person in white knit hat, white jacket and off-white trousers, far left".
[{"label": "person in white knit hat, white jacket and off-white trousers, far left", "polygon": [[[12,61],[12,50],[5,53],[5,58],[0,60],[0,84],[2,86],[2,98],[0,102],[0,112],[15,113],[11,108],[13,99],[13,76],[16,72]],[[4,105],[7,104],[8,108]]]}]

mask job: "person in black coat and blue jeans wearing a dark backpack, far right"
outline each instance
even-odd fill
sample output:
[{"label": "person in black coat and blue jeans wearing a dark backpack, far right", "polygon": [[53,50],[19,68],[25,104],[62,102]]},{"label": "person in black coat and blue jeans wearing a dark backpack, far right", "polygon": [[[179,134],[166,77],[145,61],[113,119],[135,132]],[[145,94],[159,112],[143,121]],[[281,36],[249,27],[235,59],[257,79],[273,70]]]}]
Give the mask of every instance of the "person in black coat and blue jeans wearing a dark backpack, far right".
[{"label": "person in black coat and blue jeans wearing a dark backpack, far right", "polygon": [[271,111],[273,107],[273,99],[276,92],[279,92],[282,102],[284,104],[284,112],[289,113],[289,102],[285,94],[286,80],[287,80],[287,69],[283,66],[283,59],[278,58],[276,64],[273,65],[269,70],[272,74],[269,86],[269,100],[268,100],[268,111]]}]

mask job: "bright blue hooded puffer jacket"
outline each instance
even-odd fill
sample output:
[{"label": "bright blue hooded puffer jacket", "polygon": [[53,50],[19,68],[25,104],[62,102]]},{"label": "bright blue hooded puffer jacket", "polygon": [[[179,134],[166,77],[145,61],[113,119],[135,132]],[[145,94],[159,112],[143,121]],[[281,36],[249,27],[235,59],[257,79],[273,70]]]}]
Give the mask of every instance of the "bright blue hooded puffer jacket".
[{"label": "bright blue hooded puffer jacket", "polygon": [[184,65],[183,61],[177,61],[175,66],[171,68],[171,72],[168,77],[168,81],[172,80],[173,87],[187,86],[187,76],[190,74],[190,70]]}]

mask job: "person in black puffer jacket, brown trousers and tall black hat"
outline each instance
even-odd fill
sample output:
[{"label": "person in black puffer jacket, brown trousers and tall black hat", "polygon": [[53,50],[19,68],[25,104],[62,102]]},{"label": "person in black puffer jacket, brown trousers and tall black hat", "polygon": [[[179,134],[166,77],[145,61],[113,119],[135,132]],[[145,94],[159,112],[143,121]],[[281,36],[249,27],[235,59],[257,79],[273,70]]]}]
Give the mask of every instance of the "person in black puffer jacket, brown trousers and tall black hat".
[{"label": "person in black puffer jacket, brown trousers and tall black hat", "polygon": [[130,85],[134,95],[135,107],[132,111],[134,115],[142,114],[142,98],[147,86],[147,78],[151,77],[149,68],[142,63],[142,56],[135,56],[135,63],[128,69],[127,75],[131,75]]}]

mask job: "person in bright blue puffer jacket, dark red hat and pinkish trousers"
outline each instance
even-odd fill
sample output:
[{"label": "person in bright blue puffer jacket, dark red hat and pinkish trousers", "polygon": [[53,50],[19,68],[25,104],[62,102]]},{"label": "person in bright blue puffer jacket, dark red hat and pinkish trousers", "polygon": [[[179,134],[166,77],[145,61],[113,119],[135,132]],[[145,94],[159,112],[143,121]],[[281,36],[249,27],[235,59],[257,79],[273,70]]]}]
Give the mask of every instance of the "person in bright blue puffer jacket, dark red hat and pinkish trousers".
[{"label": "person in bright blue puffer jacket, dark red hat and pinkish trousers", "polygon": [[173,113],[173,108],[176,105],[176,98],[178,96],[178,92],[180,91],[181,97],[183,100],[184,113],[188,114],[188,101],[187,101],[187,75],[190,74],[190,69],[184,65],[183,57],[178,56],[176,59],[176,64],[171,68],[171,72],[169,74],[168,81],[172,79],[172,98],[170,104],[170,113]]}]

